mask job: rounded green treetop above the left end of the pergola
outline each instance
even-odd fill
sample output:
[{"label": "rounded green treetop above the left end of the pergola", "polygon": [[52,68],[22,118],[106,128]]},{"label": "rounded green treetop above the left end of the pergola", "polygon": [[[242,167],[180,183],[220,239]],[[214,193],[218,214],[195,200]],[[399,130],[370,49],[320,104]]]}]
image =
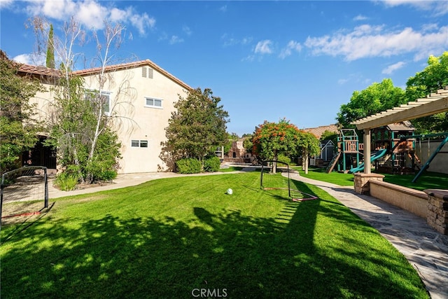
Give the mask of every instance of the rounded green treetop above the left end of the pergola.
[{"label": "rounded green treetop above the left end of the pergola", "polygon": [[391,79],[384,79],[365,90],[353,92],[350,102],[340,107],[337,123],[342,127],[352,127],[350,123],[355,120],[405,103],[405,91],[394,87]]}]

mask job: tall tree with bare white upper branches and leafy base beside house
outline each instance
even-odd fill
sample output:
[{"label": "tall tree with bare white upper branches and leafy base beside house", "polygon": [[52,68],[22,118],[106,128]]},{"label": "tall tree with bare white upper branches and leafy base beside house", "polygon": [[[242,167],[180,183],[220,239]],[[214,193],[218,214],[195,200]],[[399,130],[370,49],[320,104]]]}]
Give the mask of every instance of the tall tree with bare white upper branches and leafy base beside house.
[{"label": "tall tree with bare white upper branches and leafy base beside house", "polygon": [[[44,48],[43,37],[48,36],[46,31],[50,26],[43,18],[34,18],[32,25],[37,36],[37,50],[41,51]],[[114,58],[113,49],[120,48],[123,42],[125,27],[105,21],[102,34],[96,31],[92,33],[92,40],[97,46],[94,64],[99,65],[94,90],[85,88],[85,79],[73,73],[78,59],[82,57],[76,53],[76,47],[84,45],[87,34],[74,18],[64,22],[62,32],[62,39],[55,34],[53,41],[48,41],[53,44],[57,60],[60,61],[61,75],[54,84],[55,121],[50,125],[52,137],[55,137],[53,142],[60,150],[62,165],[78,173],[81,183],[113,179],[109,174],[116,169],[120,143],[109,122],[112,116],[117,116],[113,111],[116,105],[124,102],[117,101],[108,106],[106,114],[104,109],[109,105],[109,98],[104,96],[103,91],[106,83],[114,81],[108,66]],[[117,99],[120,93],[132,94],[129,83],[120,83]],[[130,104],[129,97],[127,103]],[[101,144],[99,141],[102,141]],[[104,144],[108,147],[107,151],[104,151]]]}]

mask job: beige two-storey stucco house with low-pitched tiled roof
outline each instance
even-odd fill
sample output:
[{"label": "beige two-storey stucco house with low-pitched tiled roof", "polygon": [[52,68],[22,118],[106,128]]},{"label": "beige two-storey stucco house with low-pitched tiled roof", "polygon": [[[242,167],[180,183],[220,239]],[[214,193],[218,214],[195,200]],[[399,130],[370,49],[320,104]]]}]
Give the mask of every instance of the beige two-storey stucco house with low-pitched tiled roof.
[{"label": "beige two-storey stucco house with low-pitched tiled roof", "polygon": [[[101,68],[83,69],[73,74],[84,78],[86,89],[99,90],[101,71]],[[46,90],[38,92],[31,102],[36,103],[39,118],[50,119],[54,100],[51,86],[53,79],[60,75],[59,71],[23,64],[19,74],[38,78],[45,87]],[[122,144],[118,173],[169,169],[170,165],[161,158],[162,142],[166,141],[165,127],[175,110],[174,103],[179,97],[187,97],[192,88],[151,60],[111,65],[106,67],[105,74],[102,96],[109,99],[109,103],[104,109],[110,114],[110,123]],[[42,141],[46,136],[45,133],[41,135]],[[41,144],[36,145],[27,159],[34,164],[55,167],[54,152]]]}]

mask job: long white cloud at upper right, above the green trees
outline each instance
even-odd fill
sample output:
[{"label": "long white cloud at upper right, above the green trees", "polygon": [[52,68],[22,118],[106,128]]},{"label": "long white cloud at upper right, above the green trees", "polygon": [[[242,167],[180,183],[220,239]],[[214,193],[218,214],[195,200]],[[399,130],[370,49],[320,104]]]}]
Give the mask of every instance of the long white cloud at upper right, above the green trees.
[{"label": "long white cloud at upper right, above the green trees", "polygon": [[308,37],[304,46],[310,48],[314,55],[340,55],[348,61],[404,53],[413,53],[414,60],[421,60],[448,48],[448,27],[433,32],[418,32],[410,27],[388,32],[384,26],[362,25],[352,32],[339,31],[331,36]]}]

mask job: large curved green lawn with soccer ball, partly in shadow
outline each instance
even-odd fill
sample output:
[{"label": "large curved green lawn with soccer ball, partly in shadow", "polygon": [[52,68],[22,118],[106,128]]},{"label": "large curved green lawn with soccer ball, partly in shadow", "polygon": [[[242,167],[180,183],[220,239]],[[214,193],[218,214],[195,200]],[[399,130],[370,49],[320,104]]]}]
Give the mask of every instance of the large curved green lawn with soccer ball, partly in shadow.
[{"label": "large curved green lawn with soccer ball, partly in shadow", "polygon": [[[319,199],[291,202],[259,179],[188,176],[54,200],[1,228],[1,297],[428,298],[405,257],[328,193],[294,182]],[[265,174],[263,185],[287,181]]]}]

